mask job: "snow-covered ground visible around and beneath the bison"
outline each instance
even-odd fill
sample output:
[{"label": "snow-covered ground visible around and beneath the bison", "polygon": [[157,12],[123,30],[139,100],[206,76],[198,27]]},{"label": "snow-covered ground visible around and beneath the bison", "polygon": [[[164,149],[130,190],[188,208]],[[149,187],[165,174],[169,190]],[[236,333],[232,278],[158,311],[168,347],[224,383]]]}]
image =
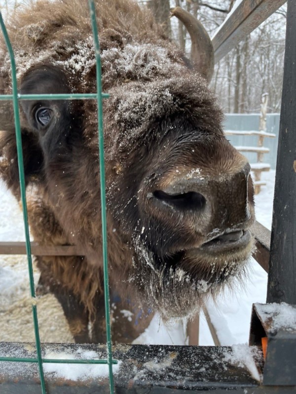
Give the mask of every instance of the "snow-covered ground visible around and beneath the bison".
[{"label": "snow-covered ground visible around and beneath the bison", "polygon": [[[272,201],[274,190],[275,171],[271,170],[267,173],[262,173],[262,178],[267,182],[266,186],[261,188],[261,192],[256,196],[256,215],[257,220],[268,229],[271,228],[272,218]],[[22,241],[24,240],[23,219],[22,212],[11,194],[6,190],[3,183],[0,182],[0,241]],[[38,273],[35,273],[37,280]],[[225,291],[223,296],[214,302],[208,302],[207,308],[214,326],[217,328],[217,333],[222,345],[232,345],[239,343],[246,343],[249,336],[249,323],[251,316],[251,308],[253,302],[265,302],[267,286],[267,274],[254,260],[251,262],[250,275],[243,285],[238,285],[236,289]],[[3,318],[12,320],[15,316],[18,319],[18,310],[28,308],[30,314],[30,305],[26,304],[21,298],[24,297],[24,292],[28,292],[28,275],[26,259],[24,257],[9,257],[0,256],[0,320],[1,333],[0,340],[29,340],[22,330],[21,336],[11,337],[3,335],[4,328],[9,331],[12,327],[7,323],[3,323]],[[49,301],[52,302],[54,301]],[[58,309],[59,305],[54,305]],[[47,331],[44,331],[41,340],[48,341],[48,332],[55,332],[60,329],[63,314],[59,310],[59,317],[57,315],[48,318],[44,312],[48,308],[41,310],[39,320],[45,322]],[[44,316],[42,315],[44,314]],[[53,312],[51,312],[53,313]],[[39,311],[38,311],[39,315]],[[31,320],[31,316],[27,316]],[[52,322],[49,325],[46,322]],[[14,323],[13,323],[14,324]],[[63,323],[64,325],[66,323]],[[3,327],[4,325],[4,327]],[[61,328],[62,329],[62,328]],[[200,316],[200,330],[199,330],[199,344],[213,345],[209,328],[207,326],[203,314]],[[68,336],[67,336],[68,335]],[[69,333],[65,336],[59,334],[61,341],[69,340]],[[33,339],[31,339],[33,340]],[[57,340],[58,341],[58,340]],[[136,343],[148,344],[186,344],[186,322],[184,320],[174,322],[164,326],[159,321],[158,316],[154,316],[149,328],[144,332]]]}]

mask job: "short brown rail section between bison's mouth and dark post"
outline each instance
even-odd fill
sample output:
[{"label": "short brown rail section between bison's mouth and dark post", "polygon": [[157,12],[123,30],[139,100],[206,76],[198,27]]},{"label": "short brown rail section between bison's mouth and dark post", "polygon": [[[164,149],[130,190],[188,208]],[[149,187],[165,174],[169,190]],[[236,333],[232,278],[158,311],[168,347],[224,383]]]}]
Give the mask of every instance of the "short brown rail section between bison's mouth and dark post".
[{"label": "short brown rail section between bison's mouth and dark post", "polygon": [[253,252],[253,257],[268,272],[271,232],[259,222],[255,222],[252,232],[256,241],[256,249]]}]

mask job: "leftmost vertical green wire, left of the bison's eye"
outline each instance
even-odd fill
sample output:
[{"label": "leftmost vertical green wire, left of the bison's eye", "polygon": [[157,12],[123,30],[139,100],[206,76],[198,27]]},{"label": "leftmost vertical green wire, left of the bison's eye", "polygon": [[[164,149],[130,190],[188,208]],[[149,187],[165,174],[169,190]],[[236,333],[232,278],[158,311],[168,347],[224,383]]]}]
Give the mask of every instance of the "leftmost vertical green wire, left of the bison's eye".
[{"label": "leftmost vertical green wire, left of the bison's eye", "polygon": [[33,312],[33,321],[34,321],[34,330],[35,330],[35,339],[36,339],[36,351],[37,351],[37,359],[38,359],[38,366],[39,366],[41,390],[42,390],[42,394],[46,394],[43,366],[42,366],[42,361],[41,361],[41,346],[40,346],[38,320],[37,320],[36,295],[35,295],[35,287],[34,287],[31,244],[30,244],[29,225],[28,225],[22,135],[21,135],[20,116],[19,116],[18,97],[17,97],[16,66],[15,66],[15,60],[14,60],[12,46],[11,46],[4,22],[3,22],[1,12],[0,12],[0,26],[1,26],[1,30],[2,30],[2,33],[4,36],[4,40],[5,40],[5,44],[6,44],[8,53],[9,53],[10,64],[11,64],[11,81],[12,81],[12,95],[13,95],[12,102],[13,102],[13,112],[14,112],[14,122],[15,122],[16,148],[17,148],[21,200],[22,200],[22,206],[23,206],[23,217],[24,217],[24,226],[25,226],[26,251],[27,251],[27,258],[28,258],[29,278],[30,278],[30,291],[31,291],[31,297],[33,298],[32,299],[32,312]]}]

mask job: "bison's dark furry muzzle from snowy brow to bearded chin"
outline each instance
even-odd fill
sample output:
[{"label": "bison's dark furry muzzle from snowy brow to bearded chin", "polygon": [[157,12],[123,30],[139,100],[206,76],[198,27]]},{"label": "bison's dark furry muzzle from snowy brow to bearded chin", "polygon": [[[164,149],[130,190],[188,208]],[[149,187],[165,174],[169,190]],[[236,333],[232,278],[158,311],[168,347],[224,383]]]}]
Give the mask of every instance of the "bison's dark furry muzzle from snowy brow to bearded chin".
[{"label": "bison's dark furry muzzle from snowy brow to bearded chin", "polygon": [[250,165],[225,139],[200,78],[162,89],[158,82],[153,99],[155,85],[145,94],[131,86],[124,102],[114,100],[117,156],[109,157],[117,175],[109,197],[134,251],[130,281],[164,316],[180,316],[245,271],[254,191]]}]

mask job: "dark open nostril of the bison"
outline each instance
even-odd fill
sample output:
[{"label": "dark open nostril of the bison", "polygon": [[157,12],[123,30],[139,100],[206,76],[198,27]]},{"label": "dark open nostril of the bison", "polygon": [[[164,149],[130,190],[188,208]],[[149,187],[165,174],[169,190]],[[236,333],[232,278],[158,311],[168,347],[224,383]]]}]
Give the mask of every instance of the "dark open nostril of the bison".
[{"label": "dark open nostril of the bison", "polygon": [[164,204],[179,210],[201,210],[206,205],[205,197],[196,192],[168,194],[162,190],[156,190],[153,196]]}]

